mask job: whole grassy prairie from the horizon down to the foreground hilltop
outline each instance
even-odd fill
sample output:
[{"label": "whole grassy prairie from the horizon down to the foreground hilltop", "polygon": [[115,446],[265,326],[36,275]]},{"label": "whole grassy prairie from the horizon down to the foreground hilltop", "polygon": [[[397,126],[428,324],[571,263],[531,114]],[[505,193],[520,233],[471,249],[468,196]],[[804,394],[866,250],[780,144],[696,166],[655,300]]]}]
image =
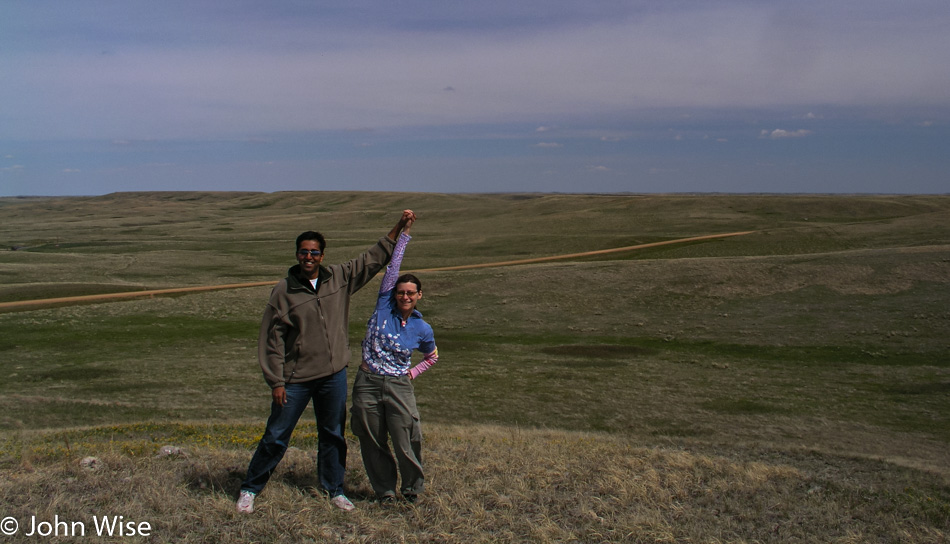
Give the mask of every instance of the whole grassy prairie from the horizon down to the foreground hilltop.
[{"label": "whole grassy prairie from the horizon down to the foreground hilltop", "polygon": [[[269,283],[15,304],[276,282],[300,232],[344,261],[406,208],[440,353],[414,506],[370,500],[350,436],[358,509],[328,507],[308,414],[234,511]],[[947,542],[950,196],[0,198],[0,372],[3,542],[94,515],[141,542]]]}]

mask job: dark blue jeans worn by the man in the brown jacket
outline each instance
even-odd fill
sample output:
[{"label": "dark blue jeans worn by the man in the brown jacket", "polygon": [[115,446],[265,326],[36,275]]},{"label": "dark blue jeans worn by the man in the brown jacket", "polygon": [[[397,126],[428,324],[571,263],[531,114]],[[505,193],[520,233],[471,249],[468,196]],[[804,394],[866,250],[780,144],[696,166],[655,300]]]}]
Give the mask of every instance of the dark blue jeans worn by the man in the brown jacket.
[{"label": "dark blue jeans worn by the man in the brown jacket", "polygon": [[284,458],[290,435],[297,421],[313,400],[317,420],[317,476],[320,487],[329,496],[343,494],[343,476],[346,472],[346,368],[325,378],[306,383],[290,383],[287,404],[271,403],[270,417],[264,436],[247,467],[242,490],[260,493],[267,480]]}]

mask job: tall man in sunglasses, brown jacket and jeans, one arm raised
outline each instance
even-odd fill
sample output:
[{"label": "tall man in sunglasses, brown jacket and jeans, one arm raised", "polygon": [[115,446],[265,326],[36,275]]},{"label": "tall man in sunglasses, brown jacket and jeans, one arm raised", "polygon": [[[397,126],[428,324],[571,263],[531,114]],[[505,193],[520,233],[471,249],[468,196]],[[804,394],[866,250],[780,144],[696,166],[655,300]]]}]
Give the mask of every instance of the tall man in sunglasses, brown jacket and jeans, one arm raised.
[{"label": "tall man in sunglasses, brown jacket and jeans, one arm raised", "polygon": [[412,210],[403,211],[388,236],[355,259],[329,267],[322,265],[326,240],[320,233],[297,237],[297,264],[274,287],[261,321],[258,360],[271,387],[271,414],[241,484],[239,512],[254,511],[254,498],[284,457],[311,400],[320,487],[334,506],[353,510],[343,494],[350,296],[386,266],[399,233],[414,219]]}]

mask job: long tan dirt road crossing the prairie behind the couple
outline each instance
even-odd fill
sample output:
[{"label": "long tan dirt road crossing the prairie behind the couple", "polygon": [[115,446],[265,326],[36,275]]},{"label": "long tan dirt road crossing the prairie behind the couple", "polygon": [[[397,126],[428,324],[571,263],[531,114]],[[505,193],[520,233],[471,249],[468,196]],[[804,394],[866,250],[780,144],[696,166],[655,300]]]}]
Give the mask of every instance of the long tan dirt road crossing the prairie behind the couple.
[{"label": "long tan dirt road crossing the prairie behind the couple", "polygon": [[[728,238],[730,236],[742,236],[751,234],[755,231],[730,232],[726,234],[709,234],[706,236],[694,236],[692,238],[679,238],[677,240],[666,240],[664,242],[652,242],[649,244],[640,244],[636,246],[616,247],[612,249],[600,249],[597,251],[585,251],[583,253],[569,253],[566,255],[552,255],[549,257],[536,257],[533,259],[521,259],[517,261],[501,261],[494,263],[466,264],[460,266],[443,266],[439,268],[419,268],[411,272],[445,272],[455,270],[469,270],[473,268],[494,268],[499,266],[513,266],[519,264],[534,264],[547,261],[560,261],[565,259],[576,259],[580,257],[590,257],[594,255],[605,255],[608,253],[622,253],[624,251],[634,251],[637,249],[646,249],[657,246],[667,246],[672,244],[682,244],[686,242],[698,242],[703,240],[713,240],[717,238]],[[83,295],[76,297],[43,298],[35,300],[16,300],[13,302],[0,302],[0,311],[10,309],[34,309],[44,306],[63,306],[69,304],[105,302],[110,300],[123,300],[130,298],[156,297],[161,295],[177,295],[183,293],[199,293],[203,291],[220,291],[223,289],[242,289],[246,287],[261,287],[265,285],[274,285],[276,281],[257,281],[253,283],[232,283],[227,285],[203,285],[198,287],[176,287],[174,289],[152,289],[149,291],[128,291],[124,293],[107,293],[104,295]]]}]

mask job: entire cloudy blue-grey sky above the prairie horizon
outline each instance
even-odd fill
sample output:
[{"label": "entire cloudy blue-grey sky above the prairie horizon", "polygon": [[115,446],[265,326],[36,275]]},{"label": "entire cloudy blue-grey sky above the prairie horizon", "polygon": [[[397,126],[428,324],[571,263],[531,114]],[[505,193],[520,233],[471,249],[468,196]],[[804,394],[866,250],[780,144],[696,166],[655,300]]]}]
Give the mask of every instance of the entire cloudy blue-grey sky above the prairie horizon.
[{"label": "entire cloudy blue-grey sky above the prairie horizon", "polygon": [[946,0],[0,0],[0,196],[948,193]]}]

